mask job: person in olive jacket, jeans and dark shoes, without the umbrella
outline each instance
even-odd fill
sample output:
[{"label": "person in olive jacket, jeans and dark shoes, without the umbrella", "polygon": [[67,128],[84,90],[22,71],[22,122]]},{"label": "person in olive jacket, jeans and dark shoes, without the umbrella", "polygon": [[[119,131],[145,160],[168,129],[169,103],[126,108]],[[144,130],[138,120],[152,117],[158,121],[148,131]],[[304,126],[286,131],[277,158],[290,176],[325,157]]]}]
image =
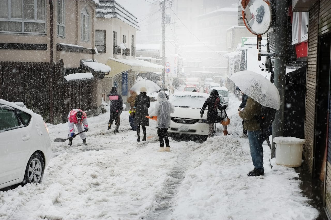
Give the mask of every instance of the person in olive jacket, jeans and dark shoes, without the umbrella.
[{"label": "person in olive jacket, jeans and dark shoes, without the umbrella", "polygon": [[248,142],[251,151],[252,162],[254,169],[250,171],[248,176],[262,176],[263,169],[263,148],[264,140],[261,138],[261,128],[257,117],[261,112],[261,104],[249,97],[244,110],[239,111],[240,118],[244,119],[244,128],[247,130]]}]

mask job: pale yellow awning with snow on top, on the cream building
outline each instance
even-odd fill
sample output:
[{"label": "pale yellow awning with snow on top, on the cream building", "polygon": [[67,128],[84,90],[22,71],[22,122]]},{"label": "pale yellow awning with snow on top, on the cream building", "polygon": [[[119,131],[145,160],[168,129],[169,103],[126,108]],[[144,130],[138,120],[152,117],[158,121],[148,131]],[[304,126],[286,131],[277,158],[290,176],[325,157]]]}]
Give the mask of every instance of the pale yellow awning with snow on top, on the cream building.
[{"label": "pale yellow awning with snow on top, on the cream building", "polygon": [[116,59],[109,57],[107,65],[112,68],[110,74],[105,77],[114,77],[125,71],[132,70],[134,72],[162,72],[163,66],[150,63],[144,60],[132,59]]}]

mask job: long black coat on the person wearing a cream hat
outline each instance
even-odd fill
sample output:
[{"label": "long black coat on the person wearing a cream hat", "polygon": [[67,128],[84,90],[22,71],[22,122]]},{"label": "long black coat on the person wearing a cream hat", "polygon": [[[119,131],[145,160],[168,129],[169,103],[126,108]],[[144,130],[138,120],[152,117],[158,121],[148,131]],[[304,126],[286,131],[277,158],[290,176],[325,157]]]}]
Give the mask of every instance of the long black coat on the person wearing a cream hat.
[{"label": "long black coat on the person wearing a cream hat", "polygon": [[134,116],[134,125],[135,126],[149,126],[148,118],[148,108],[149,108],[150,98],[146,95],[146,92],[140,92],[136,97],[134,106],[136,108],[136,113]]}]

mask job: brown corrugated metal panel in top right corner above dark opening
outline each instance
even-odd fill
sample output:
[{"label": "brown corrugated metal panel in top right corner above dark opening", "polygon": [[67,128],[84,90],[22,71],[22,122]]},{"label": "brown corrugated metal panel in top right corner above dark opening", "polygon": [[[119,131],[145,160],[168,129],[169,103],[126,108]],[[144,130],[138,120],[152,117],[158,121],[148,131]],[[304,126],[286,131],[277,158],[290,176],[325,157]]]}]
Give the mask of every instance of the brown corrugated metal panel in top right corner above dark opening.
[{"label": "brown corrugated metal panel in top right corner above dark opening", "polygon": [[322,35],[331,31],[330,11],[331,11],[330,0],[321,0],[319,4],[318,35]]}]

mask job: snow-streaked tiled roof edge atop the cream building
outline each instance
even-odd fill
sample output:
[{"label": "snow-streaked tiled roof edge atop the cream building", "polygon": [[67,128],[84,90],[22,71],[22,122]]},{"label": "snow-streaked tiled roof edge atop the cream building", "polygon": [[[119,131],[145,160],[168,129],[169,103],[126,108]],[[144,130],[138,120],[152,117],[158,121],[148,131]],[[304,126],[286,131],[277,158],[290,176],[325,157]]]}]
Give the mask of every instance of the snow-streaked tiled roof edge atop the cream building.
[{"label": "snow-streaked tiled roof edge atop the cream building", "polygon": [[137,18],[115,0],[99,0],[99,2],[95,10],[97,18],[118,18],[124,23],[140,30]]}]

